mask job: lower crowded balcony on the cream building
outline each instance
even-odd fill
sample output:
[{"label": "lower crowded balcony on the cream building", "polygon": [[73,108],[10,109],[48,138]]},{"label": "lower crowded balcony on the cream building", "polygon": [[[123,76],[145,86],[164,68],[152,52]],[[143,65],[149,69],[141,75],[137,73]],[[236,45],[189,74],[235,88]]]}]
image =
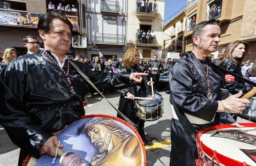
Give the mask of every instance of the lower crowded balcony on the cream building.
[{"label": "lower crowded balcony on the cream building", "polygon": [[151,35],[147,38],[146,35],[135,35],[135,45],[137,46],[155,46],[156,45],[156,35],[152,37]]}]

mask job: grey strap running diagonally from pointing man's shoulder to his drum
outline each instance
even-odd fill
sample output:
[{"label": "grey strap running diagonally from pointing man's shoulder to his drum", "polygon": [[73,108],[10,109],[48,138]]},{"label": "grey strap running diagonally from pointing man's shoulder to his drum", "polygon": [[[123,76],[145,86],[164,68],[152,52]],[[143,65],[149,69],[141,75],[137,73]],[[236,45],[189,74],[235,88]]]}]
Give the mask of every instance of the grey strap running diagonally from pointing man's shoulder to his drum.
[{"label": "grey strap running diagonally from pointing man's shoulder to his drum", "polygon": [[[105,96],[99,91],[99,89],[98,89],[97,87],[95,87],[95,85],[92,83],[92,81],[90,80],[90,78],[88,78],[88,77],[79,69],[79,67],[78,67],[76,64],[74,64],[74,62],[69,61],[69,63],[77,70],[77,72],[78,72],[79,74],[81,74],[81,76],[82,76],[95,90],[97,90],[97,91],[99,92],[99,94],[101,94],[101,96],[102,96],[104,99],[106,99]],[[134,123],[132,123],[132,121],[131,121],[130,119],[128,119],[128,118],[127,118],[126,116],[124,116],[124,114],[122,114],[117,108],[115,108],[115,106],[114,106],[108,99],[106,99],[106,100],[109,102],[109,104],[110,104],[127,122],[130,123],[130,125],[132,125],[133,127],[134,127],[134,126],[137,127],[137,125],[135,125]],[[134,127],[134,128],[135,128],[135,127]]]}]

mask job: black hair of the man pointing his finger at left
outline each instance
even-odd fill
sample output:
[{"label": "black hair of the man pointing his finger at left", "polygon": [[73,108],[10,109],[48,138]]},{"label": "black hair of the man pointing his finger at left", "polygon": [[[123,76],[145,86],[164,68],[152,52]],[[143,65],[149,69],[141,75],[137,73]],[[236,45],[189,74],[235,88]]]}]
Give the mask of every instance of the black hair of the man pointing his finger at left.
[{"label": "black hair of the man pointing his finger at left", "polygon": [[43,43],[43,40],[39,35],[39,30],[44,30],[47,33],[50,30],[50,28],[52,27],[52,20],[53,19],[59,19],[59,20],[65,22],[66,24],[68,24],[68,26],[70,28],[70,32],[72,33],[73,25],[68,20],[68,18],[66,16],[62,15],[59,12],[46,13],[46,14],[41,16],[40,20],[38,21],[38,25],[37,25],[37,35],[38,35],[37,39],[40,43]]}]

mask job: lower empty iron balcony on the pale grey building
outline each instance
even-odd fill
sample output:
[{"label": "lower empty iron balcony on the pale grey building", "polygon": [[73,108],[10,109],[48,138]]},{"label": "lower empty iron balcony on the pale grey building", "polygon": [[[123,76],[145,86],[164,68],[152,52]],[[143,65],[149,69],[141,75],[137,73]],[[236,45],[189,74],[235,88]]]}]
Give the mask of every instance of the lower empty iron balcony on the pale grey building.
[{"label": "lower empty iron balcony on the pale grey building", "polygon": [[115,44],[124,45],[125,35],[122,34],[107,34],[107,33],[95,33],[95,44]]}]

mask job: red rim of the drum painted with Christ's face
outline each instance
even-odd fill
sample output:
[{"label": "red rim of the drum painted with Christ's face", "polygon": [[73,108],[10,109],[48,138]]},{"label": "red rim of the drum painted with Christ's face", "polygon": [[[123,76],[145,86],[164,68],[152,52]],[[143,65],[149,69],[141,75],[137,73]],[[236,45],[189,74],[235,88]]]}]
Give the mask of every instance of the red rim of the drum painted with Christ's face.
[{"label": "red rim of the drum painted with Christ's face", "polygon": [[[137,132],[137,129],[136,129],[136,128],[134,128],[132,125],[130,125],[127,121],[124,121],[124,120],[122,120],[122,119],[120,119],[120,118],[118,118],[118,117],[115,117],[114,115],[111,116],[111,115],[104,115],[104,114],[92,114],[92,115],[84,115],[84,116],[82,116],[80,119],[91,118],[91,117],[106,117],[106,118],[113,119],[113,120],[115,120],[115,121],[121,122],[121,123],[123,123],[124,125],[126,125],[127,127],[129,127],[129,128],[135,133],[135,135],[137,136],[137,138],[139,139],[139,141],[140,141],[140,143],[141,143],[142,150],[143,150],[143,155],[144,155],[144,162],[143,162],[143,163],[144,163],[144,166],[146,166],[146,164],[147,164],[147,159],[146,159],[145,143],[143,142],[143,140],[142,140],[140,134]],[[79,119],[79,120],[80,120],[80,119]],[[23,160],[22,166],[27,166],[28,161],[30,160],[30,158],[31,158],[31,156],[28,155],[28,156],[26,157],[26,159]]]}]

